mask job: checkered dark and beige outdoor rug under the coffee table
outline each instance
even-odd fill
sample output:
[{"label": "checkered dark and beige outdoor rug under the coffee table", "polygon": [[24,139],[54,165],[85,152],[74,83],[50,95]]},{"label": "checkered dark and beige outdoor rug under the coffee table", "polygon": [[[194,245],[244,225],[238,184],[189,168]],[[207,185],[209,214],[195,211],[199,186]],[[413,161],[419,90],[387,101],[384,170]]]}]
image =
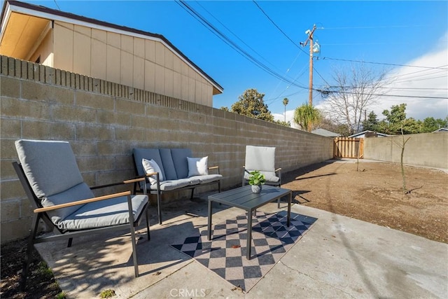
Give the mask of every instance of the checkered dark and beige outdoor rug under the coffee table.
[{"label": "checkered dark and beige outdoor rug under the coffee table", "polygon": [[210,241],[207,240],[206,228],[197,235],[187,237],[182,244],[172,246],[247,292],[317,220],[291,212],[288,228],[286,215],[286,211],[273,214],[257,212],[252,221],[250,260],[246,259],[246,214],[217,224],[214,228],[212,226]]}]

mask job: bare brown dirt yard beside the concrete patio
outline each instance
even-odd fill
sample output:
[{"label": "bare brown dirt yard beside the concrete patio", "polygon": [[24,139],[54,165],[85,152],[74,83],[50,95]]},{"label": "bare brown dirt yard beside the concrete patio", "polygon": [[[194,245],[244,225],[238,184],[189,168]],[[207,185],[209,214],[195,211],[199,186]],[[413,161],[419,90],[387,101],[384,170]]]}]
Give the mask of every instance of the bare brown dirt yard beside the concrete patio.
[{"label": "bare brown dirt yard beside the concrete patio", "polygon": [[[324,162],[288,172],[295,202],[448,243],[448,174],[400,164]],[[358,167],[358,171],[357,171]]]}]

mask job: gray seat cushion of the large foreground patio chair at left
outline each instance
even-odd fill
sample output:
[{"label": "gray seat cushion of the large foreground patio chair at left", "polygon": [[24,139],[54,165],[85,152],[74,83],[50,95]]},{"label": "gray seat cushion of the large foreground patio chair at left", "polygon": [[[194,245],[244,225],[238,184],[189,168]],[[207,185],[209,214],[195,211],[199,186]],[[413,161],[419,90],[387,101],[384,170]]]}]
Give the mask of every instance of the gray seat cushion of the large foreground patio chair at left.
[{"label": "gray seat cushion of the large foreground patio chair at left", "polygon": [[[146,202],[148,202],[146,195],[132,197],[134,217],[141,214]],[[121,196],[85,204],[63,221],[59,221],[57,226],[65,230],[85,230],[126,223],[130,223],[127,196]]]}]

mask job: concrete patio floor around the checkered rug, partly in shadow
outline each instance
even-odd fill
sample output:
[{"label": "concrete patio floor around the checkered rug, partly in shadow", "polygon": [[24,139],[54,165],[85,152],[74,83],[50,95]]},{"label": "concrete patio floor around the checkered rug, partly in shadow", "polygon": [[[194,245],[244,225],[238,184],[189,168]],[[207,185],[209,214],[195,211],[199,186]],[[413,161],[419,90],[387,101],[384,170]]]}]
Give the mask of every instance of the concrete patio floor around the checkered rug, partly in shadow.
[{"label": "concrete patio floor around the checkered rug, partly in shadow", "polygon": [[[286,204],[282,204],[282,209]],[[276,203],[259,211],[277,211]],[[207,194],[151,207],[151,241],[139,230],[140,276],[134,278],[130,233],[37,244],[69,298],[448,298],[448,244],[293,204],[318,220],[248,293],[170,244],[207,229]],[[214,224],[243,214],[216,206]]]}]

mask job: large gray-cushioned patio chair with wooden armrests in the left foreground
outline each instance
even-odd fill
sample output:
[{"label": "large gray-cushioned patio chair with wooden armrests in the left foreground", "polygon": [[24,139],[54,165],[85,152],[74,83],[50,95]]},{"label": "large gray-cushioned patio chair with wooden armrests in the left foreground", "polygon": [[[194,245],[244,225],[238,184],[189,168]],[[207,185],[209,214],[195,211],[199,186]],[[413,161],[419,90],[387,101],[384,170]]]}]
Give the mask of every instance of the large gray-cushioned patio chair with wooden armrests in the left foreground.
[{"label": "large gray-cushioned patio chair with wooden armrests in the left foreground", "polygon": [[[148,239],[148,196],[130,191],[95,197],[92,189],[134,183],[135,179],[89,188],[83,181],[76,157],[68,142],[18,140],[15,148],[20,163],[13,162],[20,182],[34,209],[21,287],[25,288],[34,244],[130,228],[135,277],[139,276],[135,227],[146,214]],[[139,180],[139,179],[137,179]],[[53,229],[38,235],[39,220]]]}]

